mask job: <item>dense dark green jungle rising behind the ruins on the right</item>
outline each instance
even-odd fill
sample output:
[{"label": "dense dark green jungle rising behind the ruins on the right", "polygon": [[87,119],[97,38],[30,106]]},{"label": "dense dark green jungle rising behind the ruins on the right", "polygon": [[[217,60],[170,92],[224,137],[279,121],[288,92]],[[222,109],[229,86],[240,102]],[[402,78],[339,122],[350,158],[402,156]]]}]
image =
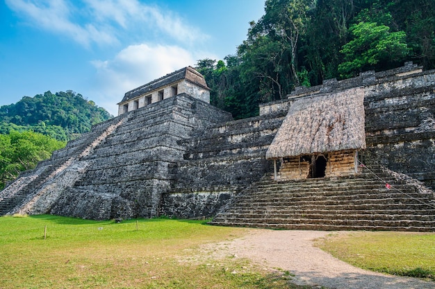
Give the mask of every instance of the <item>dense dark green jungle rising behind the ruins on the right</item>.
[{"label": "dense dark green jungle rising behind the ruins on the right", "polygon": [[236,55],[196,69],[213,105],[236,119],[294,87],[413,61],[435,68],[434,0],[266,0]]}]

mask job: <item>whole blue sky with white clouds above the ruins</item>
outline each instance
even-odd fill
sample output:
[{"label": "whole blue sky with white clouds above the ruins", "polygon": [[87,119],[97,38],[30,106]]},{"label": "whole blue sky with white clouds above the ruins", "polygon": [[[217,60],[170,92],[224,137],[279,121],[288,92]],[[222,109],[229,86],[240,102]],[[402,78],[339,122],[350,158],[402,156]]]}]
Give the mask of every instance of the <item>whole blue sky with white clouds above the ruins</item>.
[{"label": "whole blue sky with white clouds above the ruins", "polygon": [[111,114],[124,93],[246,39],[264,0],[0,0],[0,105],[71,89]]}]

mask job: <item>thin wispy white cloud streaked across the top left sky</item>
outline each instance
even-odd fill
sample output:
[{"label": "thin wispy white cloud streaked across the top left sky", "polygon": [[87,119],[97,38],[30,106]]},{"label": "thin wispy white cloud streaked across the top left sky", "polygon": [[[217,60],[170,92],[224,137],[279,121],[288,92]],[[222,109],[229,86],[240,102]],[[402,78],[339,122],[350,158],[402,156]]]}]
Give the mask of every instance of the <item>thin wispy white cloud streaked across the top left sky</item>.
[{"label": "thin wispy white cloud streaked across the top left sky", "polygon": [[174,12],[138,0],[6,0],[31,24],[66,35],[83,46],[104,45],[158,35],[192,44],[208,38]]}]

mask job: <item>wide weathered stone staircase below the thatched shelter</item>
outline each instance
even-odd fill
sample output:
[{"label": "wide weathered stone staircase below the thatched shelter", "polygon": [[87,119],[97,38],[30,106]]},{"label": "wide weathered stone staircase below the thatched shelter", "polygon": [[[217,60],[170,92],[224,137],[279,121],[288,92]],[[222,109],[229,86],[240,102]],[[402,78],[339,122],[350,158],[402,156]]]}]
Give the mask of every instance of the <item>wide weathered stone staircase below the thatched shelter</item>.
[{"label": "wide weathered stone staircase below the thatched shelter", "polygon": [[380,166],[364,168],[352,177],[277,182],[265,175],[210,223],[270,229],[435,231],[434,192]]}]

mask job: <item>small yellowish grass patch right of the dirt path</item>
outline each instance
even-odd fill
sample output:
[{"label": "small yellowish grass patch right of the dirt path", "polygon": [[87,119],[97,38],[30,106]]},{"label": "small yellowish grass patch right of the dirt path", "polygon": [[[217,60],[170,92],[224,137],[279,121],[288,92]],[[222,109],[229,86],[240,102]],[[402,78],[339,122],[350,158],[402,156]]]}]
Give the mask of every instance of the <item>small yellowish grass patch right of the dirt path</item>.
[{"label": "small yellowish grass patch right of the dirt path", "polygon": [[331,234],[317,245],[359,268],[435,279],[434,233],[356,231]]}]

